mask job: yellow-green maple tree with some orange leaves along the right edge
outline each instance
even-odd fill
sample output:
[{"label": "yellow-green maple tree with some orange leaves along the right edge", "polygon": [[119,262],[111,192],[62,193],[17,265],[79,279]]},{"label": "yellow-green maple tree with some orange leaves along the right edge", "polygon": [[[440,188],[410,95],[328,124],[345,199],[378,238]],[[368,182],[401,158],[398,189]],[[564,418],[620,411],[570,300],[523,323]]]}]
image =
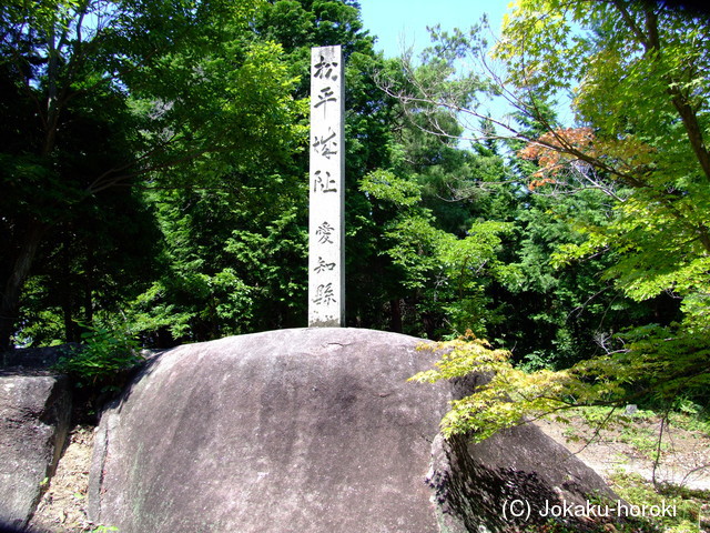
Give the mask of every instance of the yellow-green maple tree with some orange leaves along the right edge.
[{"label": "yellow-green maple tree with some orange leaves along the right edge", "polygon": [[[568,31],[572,27],[585,31]],[[641,356],[648,350],[660,365],[660,352],[676,350],[686,354],[681,360],[693,359],[689,364],[700,373],[707,372],[702,355],[692,354],[708,346],[710,283],[710,159],[703,140],[710,110],[701,94],[710,87],[708,58],[698,47],[709,41],[709,30],[707,19],[662,4],[598,2],[567,9],[557,1],[529,0],[507,19],[506,39],[497,48],[518,87],[545,92],[577,83],[577,117],[594,127],[594,135],[582,135],[586,142],[579,142],[584,129],[556,130],[557,140],[551,133],[537,139],[549,148],[535,158],[539,175],[560,183],[562,167],[585,164],[587,170],[575,172],[606,188],[611,199],[606,219],[574,220],[584,240],[560,247],[555,264],[611,251],[615,261],[604,278],[626,296],[648,301],[672,294],[681,301],[682,319],[630,333],[631,351]]]}]

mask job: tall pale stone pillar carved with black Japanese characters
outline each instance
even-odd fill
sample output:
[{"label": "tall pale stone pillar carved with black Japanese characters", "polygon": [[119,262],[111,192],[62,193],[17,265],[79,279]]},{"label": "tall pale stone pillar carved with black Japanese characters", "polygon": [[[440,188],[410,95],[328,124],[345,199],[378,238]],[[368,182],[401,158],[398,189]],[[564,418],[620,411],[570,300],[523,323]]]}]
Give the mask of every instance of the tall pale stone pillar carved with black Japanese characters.
[{"label": "tall pale stone pillar carved with black Japanese characters", "polygon": [[311,49],[308,326],[345,320],[343,52]]}]

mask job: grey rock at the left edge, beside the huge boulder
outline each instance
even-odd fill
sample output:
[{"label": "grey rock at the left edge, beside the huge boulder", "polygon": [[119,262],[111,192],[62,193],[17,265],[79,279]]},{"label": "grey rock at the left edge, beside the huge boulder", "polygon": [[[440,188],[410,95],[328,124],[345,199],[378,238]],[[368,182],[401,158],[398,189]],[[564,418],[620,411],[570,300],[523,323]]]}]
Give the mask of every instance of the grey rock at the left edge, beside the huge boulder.
[{"label": "grey rock at the left edge, beside the huge boulder", "polygon": [[65,378],[0,372],[0,530],[27,524],[62,452],[71,419]]}]

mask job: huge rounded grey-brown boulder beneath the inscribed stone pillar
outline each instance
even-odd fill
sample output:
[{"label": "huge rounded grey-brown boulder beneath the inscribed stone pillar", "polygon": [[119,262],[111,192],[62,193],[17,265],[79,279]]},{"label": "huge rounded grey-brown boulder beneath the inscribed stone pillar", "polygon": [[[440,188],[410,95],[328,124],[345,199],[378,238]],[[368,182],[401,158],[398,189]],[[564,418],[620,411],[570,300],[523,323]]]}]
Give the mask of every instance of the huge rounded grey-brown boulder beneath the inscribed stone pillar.
[{"label": "huge rounded grey-brown boulder beneath the inscribed stone pillar", "polygon": [[[452,450],[437,439],[448,401],[471,383],[408,383],[436,359],[417,350],[422,342],[371,330],[303,329],[162,353],[102,415],[91,519],[121,533],[496,529],[476,516],[500,514],[500,502],[462,501],[485,476],[468,466],[495,454],[471,459],[465,441]],[[525,455],[527,444],[540,455],[557,446],[545,435],[491,442],[503,464],[508,451]],[[491,465],[513,486],[505,495],[536,475],[531,457],[508,471]],[[557,477],[540,479],[545,497],[560,494]]]}]

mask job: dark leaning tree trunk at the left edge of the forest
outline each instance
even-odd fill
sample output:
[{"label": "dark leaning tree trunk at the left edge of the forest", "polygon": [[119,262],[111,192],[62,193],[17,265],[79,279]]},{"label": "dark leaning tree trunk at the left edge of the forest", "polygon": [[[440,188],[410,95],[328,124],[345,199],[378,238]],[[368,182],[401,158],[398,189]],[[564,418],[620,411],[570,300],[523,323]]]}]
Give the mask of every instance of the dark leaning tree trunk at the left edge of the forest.
[{"label": "dark leaning tree trunk at the left edge of the forest", "polygon": [[11,338],[18,319],[17,312],[20,305],[20,295],[22,294],[24,282],[30,275],[37,250],[45,230],[45,224],[38,220],[30,221],[24,240],[14,258],[12,272],[4,285],[0,302],[0,350],[10,350],[12,348]]}]

